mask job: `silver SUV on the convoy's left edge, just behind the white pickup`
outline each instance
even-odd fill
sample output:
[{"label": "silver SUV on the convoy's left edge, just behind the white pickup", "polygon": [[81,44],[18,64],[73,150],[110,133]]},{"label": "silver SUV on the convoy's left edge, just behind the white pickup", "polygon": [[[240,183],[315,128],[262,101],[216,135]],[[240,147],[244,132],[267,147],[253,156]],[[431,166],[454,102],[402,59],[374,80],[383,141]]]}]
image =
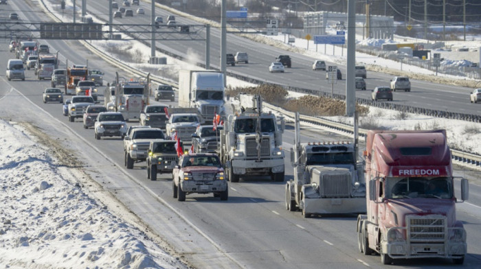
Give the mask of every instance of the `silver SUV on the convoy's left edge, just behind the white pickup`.
[{"label": "silver SUV on the convoy's left edge, just behind the white pickup", "polygon": [[120,112],[101,112],[98,113],[95,124],[95,137],[121,137],[124,139],[127,132],[127,124],[124,116]]}]

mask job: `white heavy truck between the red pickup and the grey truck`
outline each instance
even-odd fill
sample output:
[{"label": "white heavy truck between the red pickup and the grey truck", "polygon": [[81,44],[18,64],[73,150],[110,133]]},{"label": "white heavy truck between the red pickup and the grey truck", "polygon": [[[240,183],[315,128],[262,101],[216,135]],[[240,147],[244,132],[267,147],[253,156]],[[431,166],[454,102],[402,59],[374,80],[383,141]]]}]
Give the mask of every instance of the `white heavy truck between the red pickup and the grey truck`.
[{"label": "white heavy truck between the red pickup and the grey truck", "polygon": [[240,105],[245,110],[229,115],[221,130],[219,156],[227,167],[229,180],[238,182],[240,176],[269,175],[274,181],[284,181],[284,118],[262,113],[259,95],[240,94]]}]

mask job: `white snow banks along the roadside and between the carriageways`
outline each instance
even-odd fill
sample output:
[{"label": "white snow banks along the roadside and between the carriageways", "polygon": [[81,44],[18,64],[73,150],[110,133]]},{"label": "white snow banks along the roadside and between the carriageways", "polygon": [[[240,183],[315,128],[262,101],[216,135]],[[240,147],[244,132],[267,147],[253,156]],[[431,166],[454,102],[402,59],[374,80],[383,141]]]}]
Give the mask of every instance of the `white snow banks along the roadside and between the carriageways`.
[{"label": "white snow banks along the roadside and between the carriageways", "polygon": [[[282,40],[282,36],[277,38]],[[113,42],[99,41],[97,45],[108,47]],[[328,55],[332,48],[327,49],[328,54],[322,54],[323,49],[306,51],[306,43],[299,38],[293,46],[313,58],[345,64],[346,51],[344,58],[340,51]],[[132,43],[131,49],[150,51],[139,43]],[[148,56],[142,56],[144,62]],[[399,68],[399,63],[381,58],[362,54],[357,58],[363,63]],[[168,58],[168,65],[161,68],[175,73],[186,65]],[[404,68],[423,71],[418,67]],[[232,78],[227,83],[246,85]],[[297,97],[293,93],[290,96]],[[331,119],[346,123],[351,120]],[[445,128],[451,146],[481,153],[481,124],[411,114],[401,117],[399,112],[379,108],[370,108],[369,115],[360,121],[392,130]],[[40,139],[32,136],[33,128],[0,120],[0,130],[0,264],[4,268],[186,268],[143,231],[109,211],[111,204],[102,204],[78,185],[74,179],[87,176],[80,169],[66,166],[61,156],[54,156],[51,148],[39,143]]]}]

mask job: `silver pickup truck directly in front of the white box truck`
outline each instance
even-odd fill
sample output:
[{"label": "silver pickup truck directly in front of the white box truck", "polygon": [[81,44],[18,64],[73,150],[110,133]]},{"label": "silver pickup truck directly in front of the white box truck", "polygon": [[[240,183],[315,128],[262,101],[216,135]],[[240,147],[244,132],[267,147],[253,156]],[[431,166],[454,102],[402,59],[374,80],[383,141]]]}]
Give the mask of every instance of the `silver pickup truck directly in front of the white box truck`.
[{"label": "silver pickup truck directly in front of the white box truck", "polygon": [[168,137],[177,135],[185,144],[192,143],[192,134],[201,125],[196,108],[168,108],[169,119],[166,122]]}]

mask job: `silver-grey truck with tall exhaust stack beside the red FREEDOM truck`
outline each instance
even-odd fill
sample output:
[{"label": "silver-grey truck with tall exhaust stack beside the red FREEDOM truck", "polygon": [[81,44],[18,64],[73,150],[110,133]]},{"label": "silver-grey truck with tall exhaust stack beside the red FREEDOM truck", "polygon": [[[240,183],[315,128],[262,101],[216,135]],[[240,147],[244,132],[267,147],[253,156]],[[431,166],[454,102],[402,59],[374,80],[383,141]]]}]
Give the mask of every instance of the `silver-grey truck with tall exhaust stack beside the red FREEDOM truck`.
[{"label": "silver-grey truck with tall exhaust stack beside the red FREEDOM truck", "polygon": [[356,158],[357,145],[344,141],[301,143],[299,122],[299,113],[295,113],[294,179],[285,187],[286,209],[300,209],[304,218],[366,212],[366,181],[363,164]]}]

